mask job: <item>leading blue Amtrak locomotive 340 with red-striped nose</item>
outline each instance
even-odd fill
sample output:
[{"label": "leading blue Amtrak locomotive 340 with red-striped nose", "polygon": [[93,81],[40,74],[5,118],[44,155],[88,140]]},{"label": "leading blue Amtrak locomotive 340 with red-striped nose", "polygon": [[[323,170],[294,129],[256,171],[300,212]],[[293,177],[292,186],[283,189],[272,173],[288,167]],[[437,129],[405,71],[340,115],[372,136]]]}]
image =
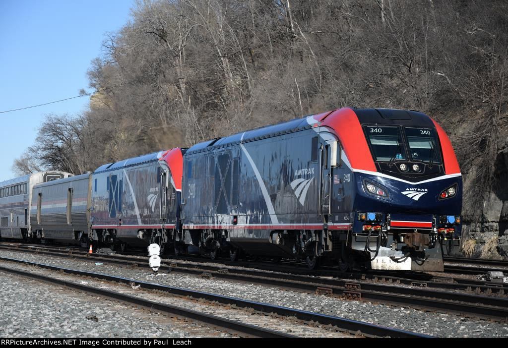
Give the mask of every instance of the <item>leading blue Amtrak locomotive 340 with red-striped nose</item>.
[{"label": "leading blue Amtrak locomotive 340 with red-striped nose", "polygon": [[310,268],[443,269],[462,179],[442,128],[415,111],[343,108],[197,144],[175,243]]}]

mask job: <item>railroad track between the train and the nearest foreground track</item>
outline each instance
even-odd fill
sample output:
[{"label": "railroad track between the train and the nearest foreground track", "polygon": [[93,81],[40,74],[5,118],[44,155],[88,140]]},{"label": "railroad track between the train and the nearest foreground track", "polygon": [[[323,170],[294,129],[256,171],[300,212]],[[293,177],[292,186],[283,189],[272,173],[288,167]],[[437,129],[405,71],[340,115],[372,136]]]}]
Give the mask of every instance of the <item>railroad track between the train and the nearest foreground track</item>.
[{"label": "railroad track between the train and the nearest foreground track", "polygon": [[[4,248],[4,247],[0,247]],[[13,250],[17,250],[14,248]],[[88,261],[103,261],[130,267],[149,269],[146,261],[139,258],[121,257],[116,255],[83,254],[69,252],[40,251],[33,248],[19,249],[19,251],[39,253],[57,257],[72,257]],[[4,259],[4,258],[0,258]],[[383,302],[391,305],[409,305],[432,311],[446,311],[453,314],[482,318],[494,321],[506,321],[508,318],[507,289],[496,286],[442,283],[436,281],[416,282],[399,278],[392,283],[402,285],[387,285],[386,279],[372,281],[356,281],[344,279],[329,279],[316,276],[232,268],[225,266],[210,266],[173,262],[161,267],[160,271],[172,271],[194,274],[203,277],[215,277],[241,282],[253,282],[283,287],[292,290],[315,292],[320,294],[341,296],[352,299],[364,299],[373,302]],[[379,284],[383,282],[385,284]],[[462,290],[463,292],[437,291],[436,288]]]}]

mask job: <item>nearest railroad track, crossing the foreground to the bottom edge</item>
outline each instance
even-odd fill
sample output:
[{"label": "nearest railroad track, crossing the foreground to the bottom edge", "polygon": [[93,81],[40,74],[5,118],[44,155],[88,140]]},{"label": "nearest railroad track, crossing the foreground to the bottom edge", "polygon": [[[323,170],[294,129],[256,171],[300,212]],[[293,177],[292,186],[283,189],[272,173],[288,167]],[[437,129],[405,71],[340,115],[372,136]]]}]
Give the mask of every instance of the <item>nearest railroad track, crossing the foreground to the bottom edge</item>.
[{"label": "nearest railroad track, crossing the foreground to the bottom edge", "polygon": [[[192,301],[207,301],[210,303],[220,303],[222,305],[226,305],[228,307],[236,306],[237,308],[245,308],[248,310],[254,310],[263,314],[264,316],[276,317],[276,318],[291,318],[304,322],[306,324],[310,323],[313,325],[321,324],[322,326],[327,326],[329,328],[333,328],[336,331],[345,332],[353,335],[360,335],[366,337],[396,337],[396,338],[424,338],[430,337],[423,334],[418,334],[414,332],[409,332],[400,329],[388,328],[384,326],[369,324],[365,322],[344,319],[339,317],[327,316],[323,314],[317,314],[313,312],[281,307],[276,305],[271,305],[267,303],[260,303],[254,301],[247,301],[238,298],[232,298],[228,296],[216,295],[206,292],[188,290],[170,287],[166,285],[147,283],[142,281],[137,281],[134,279],[128,279],[124,277],[117,277],[108,274],[88,272],[82,270],[75,270],[69,268],[63,268],[59,266],[52,266],[43,263],[29,262],[25,260],[17,260],[10,258],[2,258],[3,261],[6,262],[14,262],[17,264],[28,265],[32,267],[37,267],[41,269],[48,269],[51,271],[59,272],[60,277],[47,276],[34,271],[25,271],[20,269],[15,269],[11,267],[0,266],[0,271],[18,274],[26,277],[35,278],[44,282],[50,282],[52,284],[57,284],[60,286],[66,286],[73,289],[77,289],[80,291],[84,291],[87,293],[91,293],[94,295],[100,295],[107,298],[113,298],[122,302],[142,306],[145,308],[149,308],[151,310],[160,311],[163,313],[176,315],[180,317],[189,318],[201,323],[207,323],[213,325],[214,327],[224,328],[226,330],[233,330],[235,332],[239,332],[241,334],[247,336],[255,336],[255,337],[297,337],[293,334],[288,334],[285,332],[280,332],[273,329],[267,329],[255,325],[250,325],[247,323],[240,322],[238,320],[230,320],[223,317],[213,316],[210,314],[206,314],[201,311],[189,310],[184,307],[168,305],[162,301],[152,301],[147,300],[146,298],[142,298],[140,296],[132,296],[125,293],[120,293],[118,291],[111,291],[107,289],[101,289],[97,287],[91,287],[88,285],[78,284],[76,282],[71,282],[67,279],[61,279],[61,274],[65,275],[77,275],[79,277],[89,277],[92,279],[97,279],[101,281],[107,281],[116,284],[127,284],[130,287],[141,290],[150,290],[155,291],[157,294],[166,294],[171,296],[178,296],[179,300],[184,300],[185,298],[192,299]],[[37,269],[36,268],[36,269]],[[166,298],[166,297],[165,297]],[[278,324],[276,324],[278,325]],[[293,324],[296,326],[295,324]]]}]

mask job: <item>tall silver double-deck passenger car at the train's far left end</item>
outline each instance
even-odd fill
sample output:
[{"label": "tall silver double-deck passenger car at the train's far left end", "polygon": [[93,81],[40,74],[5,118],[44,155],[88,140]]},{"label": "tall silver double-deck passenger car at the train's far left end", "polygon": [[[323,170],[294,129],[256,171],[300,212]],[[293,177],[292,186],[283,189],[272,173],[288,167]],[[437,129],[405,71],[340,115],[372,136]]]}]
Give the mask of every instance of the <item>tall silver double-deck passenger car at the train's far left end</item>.
[{"label": "tall silver double-deck passenger car at the train's far left end", "polygon": [[42,171],[0,183],[0,237],[25,239],[33,237],[30,229],[32,188],[44,182],[67,178],[62,171]]}]

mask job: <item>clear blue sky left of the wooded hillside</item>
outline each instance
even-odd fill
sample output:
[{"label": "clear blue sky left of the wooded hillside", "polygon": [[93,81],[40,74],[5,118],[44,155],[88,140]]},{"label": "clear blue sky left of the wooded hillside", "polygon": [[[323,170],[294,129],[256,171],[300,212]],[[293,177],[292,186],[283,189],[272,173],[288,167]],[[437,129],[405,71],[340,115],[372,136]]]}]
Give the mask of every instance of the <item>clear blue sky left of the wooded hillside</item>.
[{"label": "clear blue sky left of the wooded hillside", "polygon": [[[104,33],[130,17],[132,0],[0,0],[0,111],[91,91],[90,61],[101,54]],[[76,115],[87,96],[0,114],[0,181],[14,177],[16,157],[33,144],[46,114]]]}]

